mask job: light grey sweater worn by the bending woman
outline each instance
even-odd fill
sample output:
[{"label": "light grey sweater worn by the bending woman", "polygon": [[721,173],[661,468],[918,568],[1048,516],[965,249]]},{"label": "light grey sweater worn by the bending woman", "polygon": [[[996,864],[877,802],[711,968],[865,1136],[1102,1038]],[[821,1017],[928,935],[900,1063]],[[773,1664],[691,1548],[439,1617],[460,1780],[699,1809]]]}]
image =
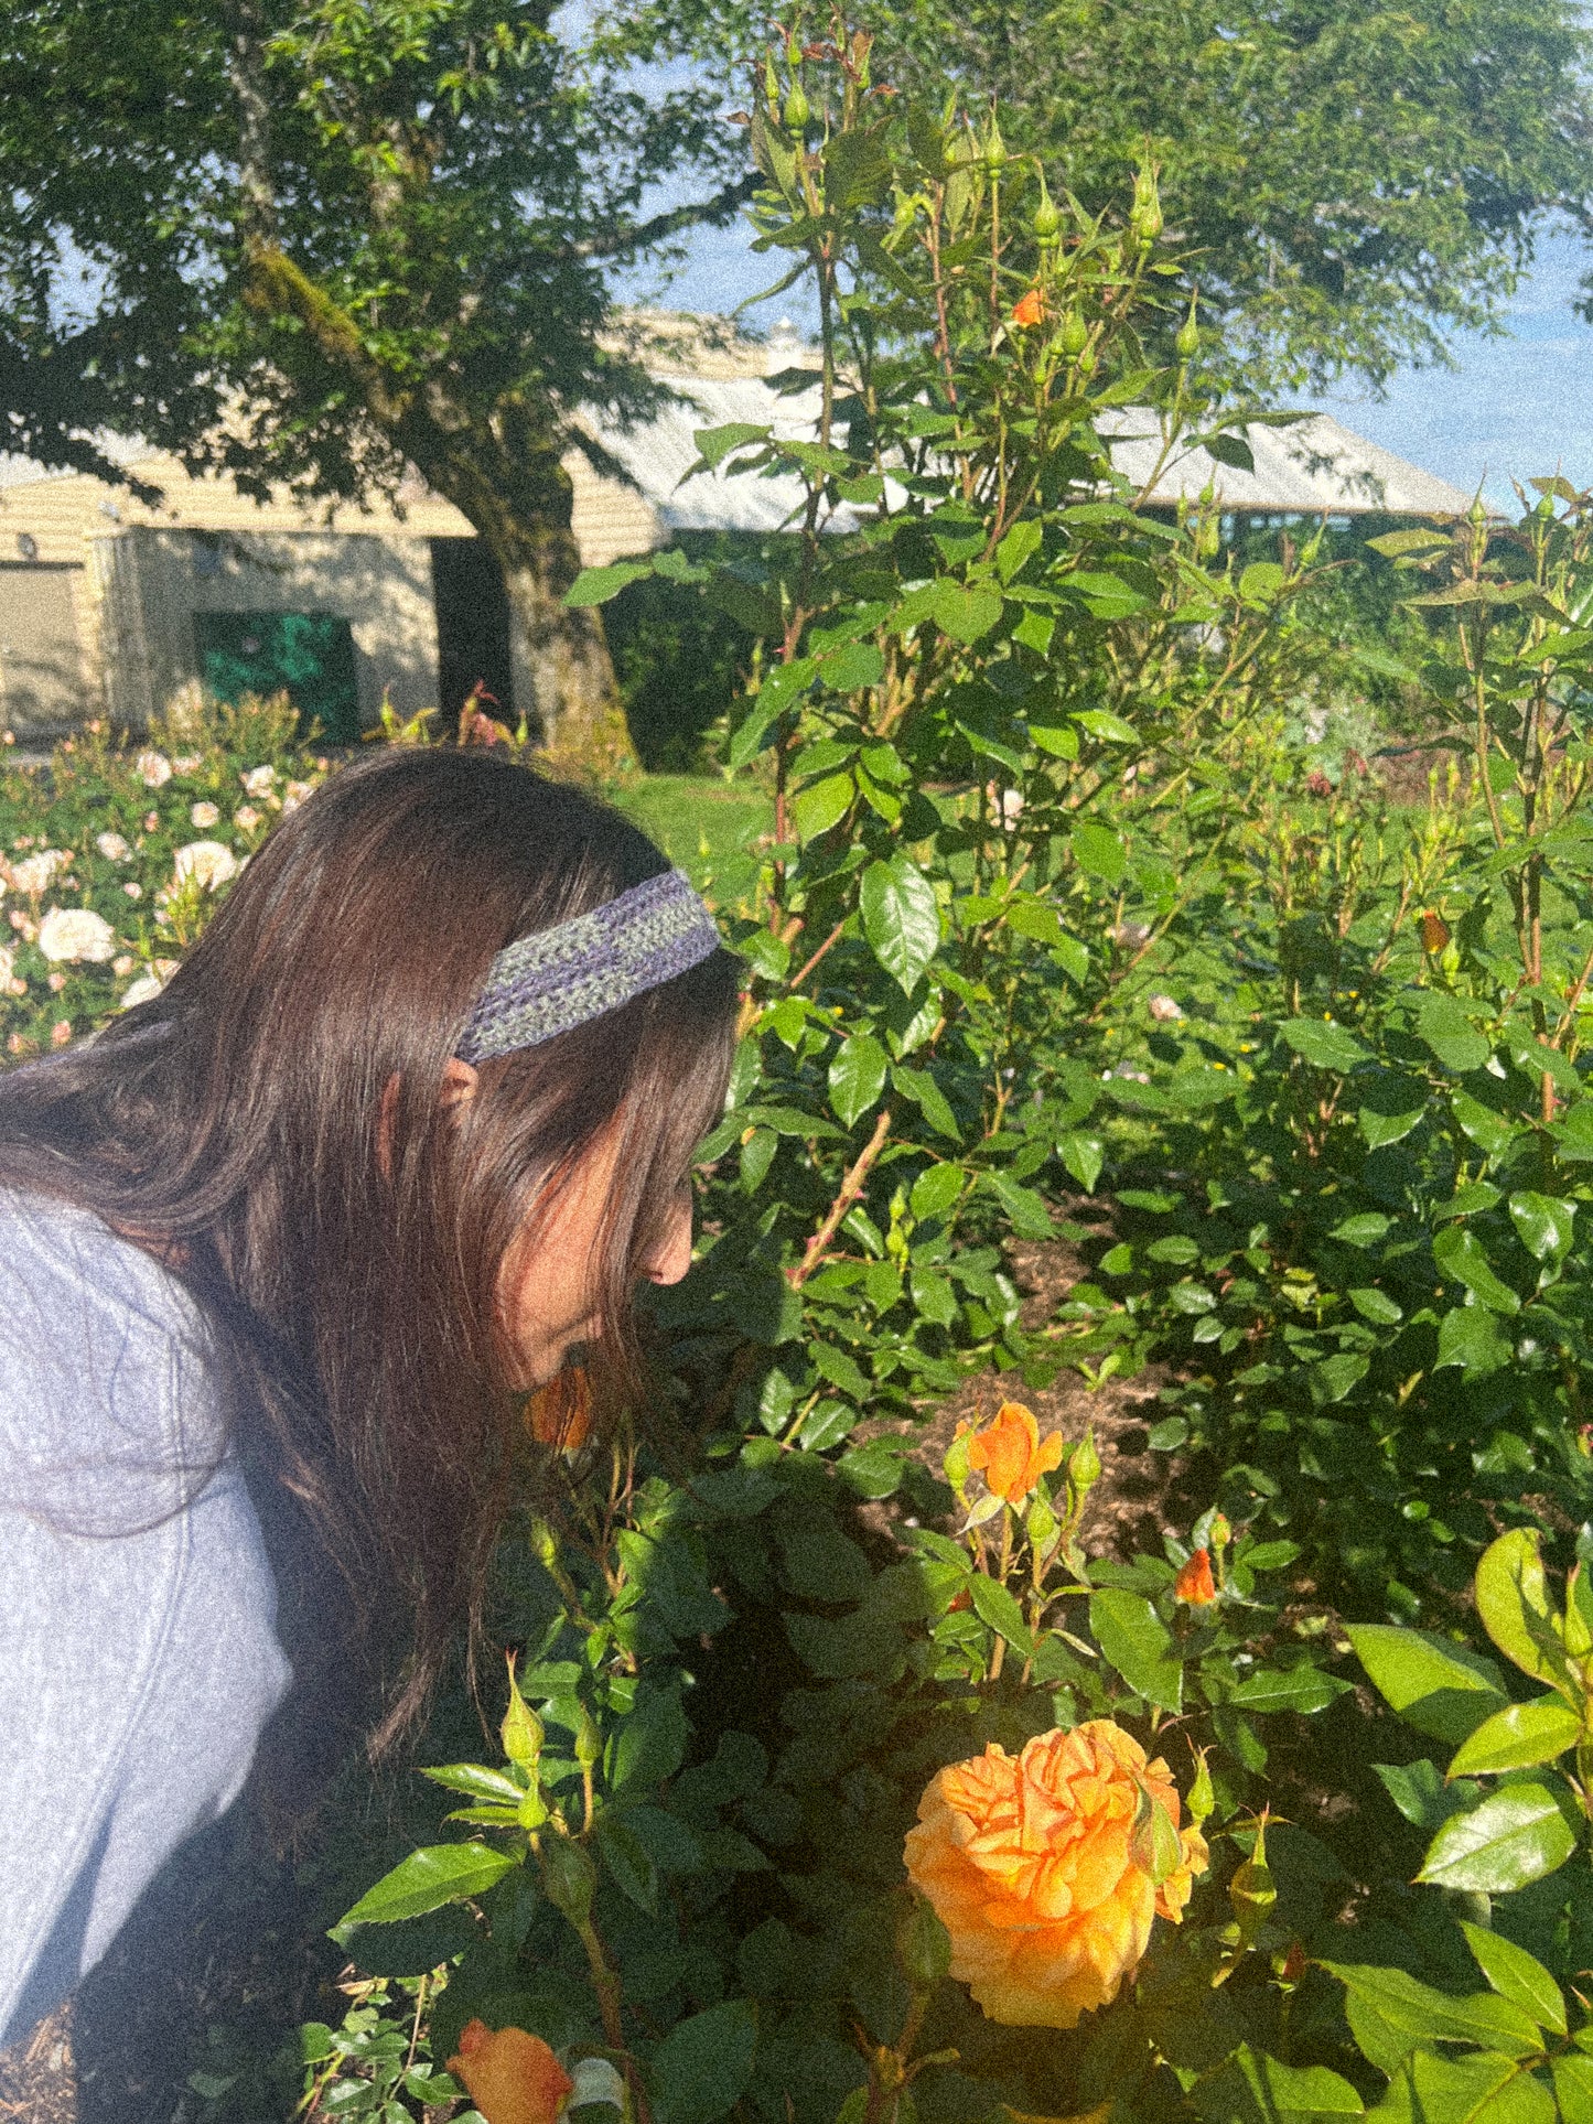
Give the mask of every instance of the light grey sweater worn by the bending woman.
[{"label": "light grey sweater worn by the bending woman", "polygon": [[289,1680],[193,1300],[0,1192],[0,2045],[236,1799]]}]

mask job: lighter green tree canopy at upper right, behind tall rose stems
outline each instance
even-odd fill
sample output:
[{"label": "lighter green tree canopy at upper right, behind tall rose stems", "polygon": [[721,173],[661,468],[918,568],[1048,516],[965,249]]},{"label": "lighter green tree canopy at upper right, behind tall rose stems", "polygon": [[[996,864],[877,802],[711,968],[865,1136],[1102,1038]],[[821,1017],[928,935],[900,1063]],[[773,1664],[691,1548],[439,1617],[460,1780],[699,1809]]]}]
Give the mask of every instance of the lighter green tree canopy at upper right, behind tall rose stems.
[{"label": "lighter green tree canopy at upper right, behind tall rose stems", "polygon": [[[1160,166],[1223,376],[1383,382],[1487,327],[1553,212],[1593,225],[1589,34],[1565,0],[864,0],[875,74],[992,98],[1013,149],[1113,210]],[[746,0],[658,0],[705,64]]]}]

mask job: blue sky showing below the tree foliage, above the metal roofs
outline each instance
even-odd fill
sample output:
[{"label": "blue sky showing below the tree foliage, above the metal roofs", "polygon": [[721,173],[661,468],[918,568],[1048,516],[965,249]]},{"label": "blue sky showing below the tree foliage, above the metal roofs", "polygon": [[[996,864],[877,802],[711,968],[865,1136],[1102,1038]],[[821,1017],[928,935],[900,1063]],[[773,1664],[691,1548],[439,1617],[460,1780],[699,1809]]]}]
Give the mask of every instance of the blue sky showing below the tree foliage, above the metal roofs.
[{"label": "blue sky showing below the tree foliage, above the metal roofs", "polygon": [[[1483,486],[1495,508],[1512,508],[1512,478],[1561,469],[1593,486],[1593,327],[1572,314],[1589,266],[1593,253],[1580,238],[1548,234],[1502,338],[1457,336],[1453,370],[1404,372],[1383,399],[1349,389],[1311,404],[1468,493]],[[733,310],[777,272],[780,257],[754,257],[746,229],[705,229],[663,299],[680,310]],[[767,327],[782,314],[809,323],[796,289],[750,319]]]}]

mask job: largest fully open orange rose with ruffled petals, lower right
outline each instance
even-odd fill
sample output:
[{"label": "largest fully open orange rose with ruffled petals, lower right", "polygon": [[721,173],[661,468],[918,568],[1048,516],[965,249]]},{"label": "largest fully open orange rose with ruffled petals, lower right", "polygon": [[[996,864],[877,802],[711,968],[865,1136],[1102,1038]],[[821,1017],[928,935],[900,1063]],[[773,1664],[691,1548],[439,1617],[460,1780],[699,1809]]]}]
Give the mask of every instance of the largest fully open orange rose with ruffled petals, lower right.
[{"label": "largest fully open orange rose with ruffled petals, lower right", "polygon": [[[1136,1818],[1158,1803],[1179,1865],[1158,1886]],[[1132,1733],[1092,1718],[1041,1733],[1020,1757],[994,1742],[930,1780],[907,1833],[907,1871],[952,1935],[952,1975],[990,2020],[1073,2028],[1109,2005],[1145,1954],[1153,1918],[1175,1924],[1206,1869],[1179,1793]]]}]

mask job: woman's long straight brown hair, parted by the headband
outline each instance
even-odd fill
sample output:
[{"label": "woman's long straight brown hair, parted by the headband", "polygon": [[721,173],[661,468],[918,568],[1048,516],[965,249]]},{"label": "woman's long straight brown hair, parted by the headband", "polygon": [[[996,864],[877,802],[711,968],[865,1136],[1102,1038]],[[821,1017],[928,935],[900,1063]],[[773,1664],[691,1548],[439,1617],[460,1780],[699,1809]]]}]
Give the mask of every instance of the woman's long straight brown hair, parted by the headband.
[{"label": "woman's long straight brown hair, parted by the headband", "polygon": [[327,1746],[382,1665],[391,1742],[480,1616],[518,1406],[499,1266],[610,1130],[593,1274],[633,1374],[631,1287],[724,1100],[735,958],[484,1062],[463,1107],[442,1087],[493,954],[661,869],[523,767],[378,754],[276,828],[157,998],[0,1079],[0,1185],[136,1234],[208,1319]]}]

